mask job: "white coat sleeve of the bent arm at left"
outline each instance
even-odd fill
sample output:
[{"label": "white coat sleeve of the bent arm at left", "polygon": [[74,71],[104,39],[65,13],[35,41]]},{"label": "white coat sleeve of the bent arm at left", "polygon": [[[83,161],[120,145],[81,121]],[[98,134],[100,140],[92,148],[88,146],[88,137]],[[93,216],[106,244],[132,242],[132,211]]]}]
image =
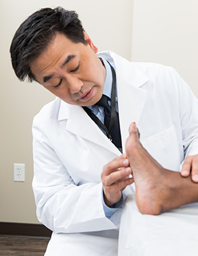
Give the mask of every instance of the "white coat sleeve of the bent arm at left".
[{"label": "white coat sleeve of the bent arm at left", "polygon": [[112,230],[102,205],[102,183],[75,185],[67,168],[42,129],[39,118],[33,126],[34,179],[38,220],[55,233]]}]

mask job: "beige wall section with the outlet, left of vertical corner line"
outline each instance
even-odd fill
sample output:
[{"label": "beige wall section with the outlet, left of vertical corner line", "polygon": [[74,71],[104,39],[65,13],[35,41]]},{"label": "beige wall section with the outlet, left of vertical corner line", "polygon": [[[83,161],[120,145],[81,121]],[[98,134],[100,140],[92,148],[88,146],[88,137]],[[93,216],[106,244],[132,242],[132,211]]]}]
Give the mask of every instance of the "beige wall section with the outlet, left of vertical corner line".
[{"label": "beige wall section with the outlet, left of vertical corner line", "polygon": [[[114,50],[130,59],[132,3],[131,0],[0,0],[0,222],[38,223],[31,187],[32,118],[54,99],[40,85],[21,83],[15,77],[9,46],[16,28],[37,9],[60,5],[79,13],[100,51]],[[25,163],[24,183],[13,181],[13,163]]]}]

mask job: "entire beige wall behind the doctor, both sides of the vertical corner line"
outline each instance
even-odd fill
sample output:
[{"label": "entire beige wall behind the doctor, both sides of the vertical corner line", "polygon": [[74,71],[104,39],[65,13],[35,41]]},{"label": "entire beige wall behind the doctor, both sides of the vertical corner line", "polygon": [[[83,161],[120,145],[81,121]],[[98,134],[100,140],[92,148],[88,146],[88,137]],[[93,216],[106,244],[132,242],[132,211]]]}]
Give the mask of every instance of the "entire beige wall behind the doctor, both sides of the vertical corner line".
[{"label": "entire beige wall behind the doctor, both sides of the vertical corner line", "polygon": [[[38,223],[31,187],[32,118],[54,97],[36,83],[16,79],[9,45],[28,15],[57,5],[79,13],[100,51],[110,49],[128,60],[172,65],[198,96],[196,0],[0,0],[0,222]],[[25,163],[24,183],[13,182],[13,163]]]}]

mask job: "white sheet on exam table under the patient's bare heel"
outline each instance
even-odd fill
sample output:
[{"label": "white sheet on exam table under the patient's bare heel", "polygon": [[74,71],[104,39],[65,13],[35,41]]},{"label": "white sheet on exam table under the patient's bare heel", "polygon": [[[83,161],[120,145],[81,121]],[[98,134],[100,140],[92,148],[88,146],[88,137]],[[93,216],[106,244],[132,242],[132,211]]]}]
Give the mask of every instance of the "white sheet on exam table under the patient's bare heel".
[{"label": "white sheet on exam table under the patient's bare heel", "polygon": [[139,212],[130,194],[121,215],[118,255],[197,256],[198,205],[151,216]]}]

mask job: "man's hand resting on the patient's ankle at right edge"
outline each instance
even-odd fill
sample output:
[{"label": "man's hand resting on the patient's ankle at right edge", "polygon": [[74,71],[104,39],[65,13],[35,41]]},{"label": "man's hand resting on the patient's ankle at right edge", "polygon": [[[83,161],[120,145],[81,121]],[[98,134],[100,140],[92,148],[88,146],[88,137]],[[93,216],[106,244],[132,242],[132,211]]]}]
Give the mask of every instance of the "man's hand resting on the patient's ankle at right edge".
[{"label": "man's hand resting on the patient's ankle at right edge", "polygon": [[190,173],[192,181],[198,183],[198,155],[189,155],[183,162],[181,175],[187,177]]}]

